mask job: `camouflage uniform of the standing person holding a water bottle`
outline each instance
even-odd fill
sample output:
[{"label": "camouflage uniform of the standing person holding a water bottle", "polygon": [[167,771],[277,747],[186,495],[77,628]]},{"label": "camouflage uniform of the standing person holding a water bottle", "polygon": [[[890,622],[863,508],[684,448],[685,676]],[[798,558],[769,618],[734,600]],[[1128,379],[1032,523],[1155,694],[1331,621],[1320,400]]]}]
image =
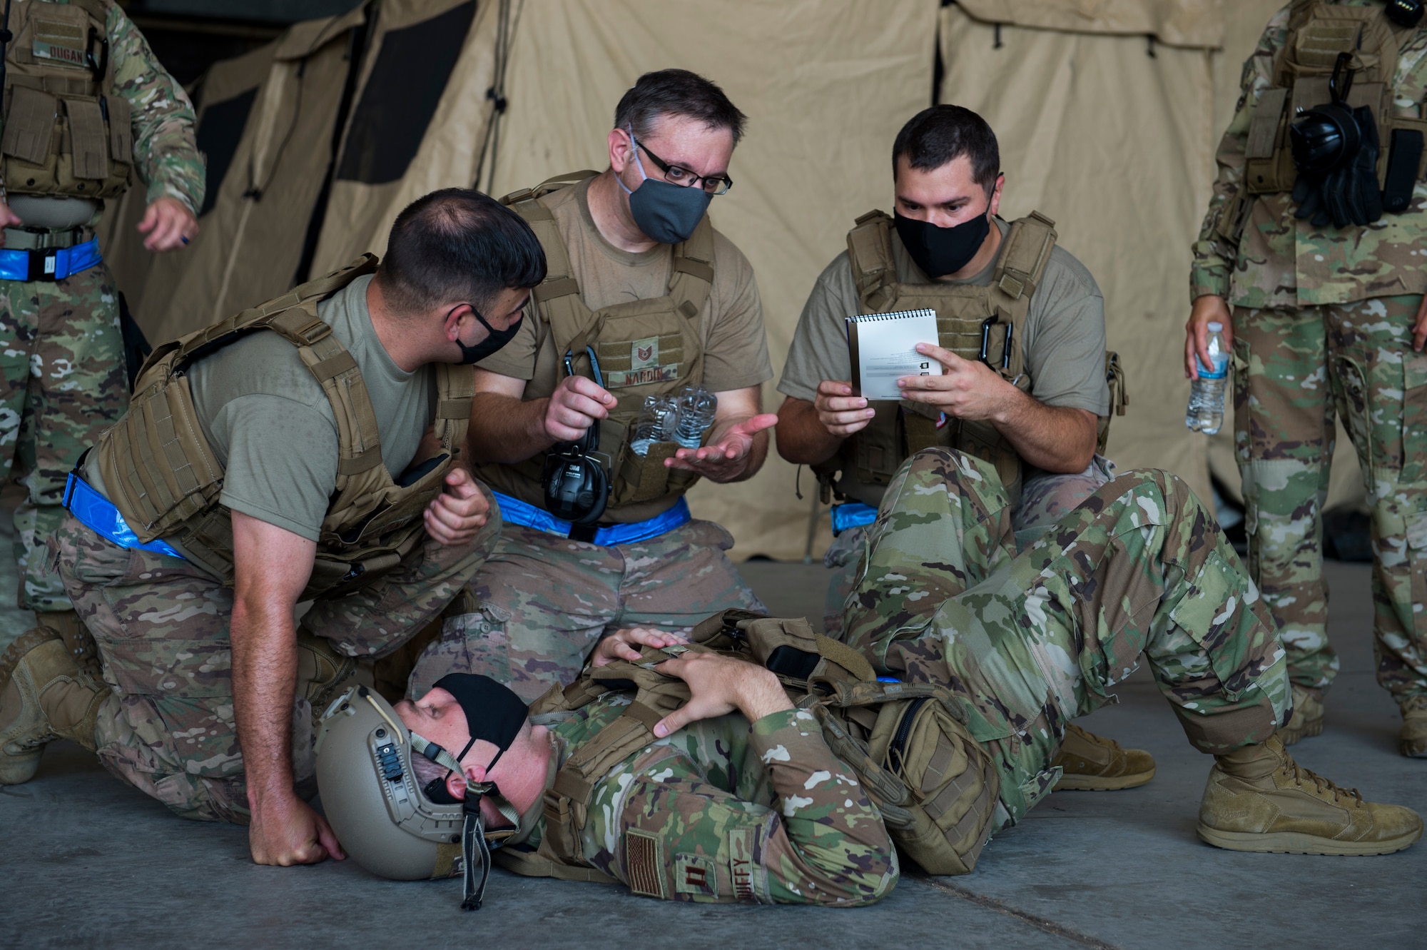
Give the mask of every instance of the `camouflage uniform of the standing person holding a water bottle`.
[{"label": "camouflage uniform of the standing person holding a water bottle", "polygon": [[[1427,382],[1411,351],[1413,317],[1427,291],[1418,257],[1427,184],[1416,184],[1404,213],[1363,228],[1316,228],[1293,217],[1291,195],[1257,195],[1239,242],[1223,238],[1230,228],[1222,218],[1240,197],[1253,107],[1273,86],[1290,13],[1274,14],[1244,63],[1243,96],[1219,147],[1219,178],[1194,244],[1192,297],[1213,294],[1233,307],[1249,571],[1289,650],[1293,682],[1323,688],[1339,669],[1327,642],[1320,518],[1337,414],[1373,506],[1378,682],[1406,700],[1427,692],[1427,620],[1414,608],[1427,593],[1427,445],[1416,441],[1421,427],[1407,408],[1421,398],[1411,389]],[[1397,116],[1421,117],[1427,27],[1401,34],[1390,94]]]}]

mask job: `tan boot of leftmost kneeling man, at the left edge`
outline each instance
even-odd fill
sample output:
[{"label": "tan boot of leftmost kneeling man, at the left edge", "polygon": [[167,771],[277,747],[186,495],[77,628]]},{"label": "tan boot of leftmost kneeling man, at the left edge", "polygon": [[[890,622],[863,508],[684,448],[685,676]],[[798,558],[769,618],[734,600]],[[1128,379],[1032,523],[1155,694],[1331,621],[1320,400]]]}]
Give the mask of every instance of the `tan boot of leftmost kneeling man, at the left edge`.
[{"label": "tan boot of leftmost kneeling man, at the left edge", "polygon": [[64,640],[34,628],[0,655],[0,785],[34,777],[44,746],[71,739],[94,750],[108,689],[83,672]]}]

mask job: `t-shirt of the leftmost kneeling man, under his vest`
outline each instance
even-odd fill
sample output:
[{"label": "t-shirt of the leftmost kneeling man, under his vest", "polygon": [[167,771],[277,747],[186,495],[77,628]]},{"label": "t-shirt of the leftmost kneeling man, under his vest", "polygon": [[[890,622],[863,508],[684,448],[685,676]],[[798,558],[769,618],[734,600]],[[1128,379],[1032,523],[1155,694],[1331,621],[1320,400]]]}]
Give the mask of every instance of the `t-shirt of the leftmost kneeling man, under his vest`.
[{"label": "t-shirt of the leftmost kneeling man, under his vest", "polygon": [[[435,371],[395,364],[367,311],[371,275],[317,305],[351,352],[371,397],[381,458],[397,478],[435,418]],[[255,332],[188,368],[203,435],[224,466],[218,501],[233,511],[317,541],[337,489],[337,417],[297,347]],[[86,481],[103,491],[93,458]],[[171,539],[166,539],[170,541]]]}]

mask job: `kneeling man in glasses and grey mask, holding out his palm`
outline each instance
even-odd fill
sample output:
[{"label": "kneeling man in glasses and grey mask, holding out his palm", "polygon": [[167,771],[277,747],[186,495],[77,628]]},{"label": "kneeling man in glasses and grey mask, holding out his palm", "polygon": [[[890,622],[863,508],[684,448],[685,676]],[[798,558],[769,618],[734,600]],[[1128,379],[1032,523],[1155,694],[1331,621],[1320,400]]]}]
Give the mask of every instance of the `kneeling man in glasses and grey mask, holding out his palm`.
[{"label": "kneeling man in glasses and grey mask, holding out his palm", "polygon": [[[699,476],[751,478],[776,422],[759,414],[773,374],[753,270],[706,214],[732,184],[743,120],[706,78],[648,73],[619,100],[602,174],[505,198],[549,274],[475,375],[471,461],[504,525],[471,582],[479,612],[447,625],[411,695],[472,672],[534,699],[618,628],[762,609],[723,555],[732,538],[684,501]],[[645,397],[689,385],[718,397],[699,446],[655,439],[636,454]]]}]

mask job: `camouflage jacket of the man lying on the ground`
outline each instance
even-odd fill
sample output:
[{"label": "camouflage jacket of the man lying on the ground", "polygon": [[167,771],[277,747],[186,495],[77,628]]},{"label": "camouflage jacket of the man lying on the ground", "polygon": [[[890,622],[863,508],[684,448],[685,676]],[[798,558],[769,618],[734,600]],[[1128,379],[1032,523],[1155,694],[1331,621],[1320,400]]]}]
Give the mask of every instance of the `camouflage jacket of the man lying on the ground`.
[{"label": "camouflage jacket of the man lying on the ground", "polygon": [[[564,763],[628,703],[534,720]],[[544,829],[541,817],[529,844]],[[594,867],[666,900],[852,907],[898,882],[882,816],[806,710],[705,719],[635,752],[595,783],[582,846]]]}]

